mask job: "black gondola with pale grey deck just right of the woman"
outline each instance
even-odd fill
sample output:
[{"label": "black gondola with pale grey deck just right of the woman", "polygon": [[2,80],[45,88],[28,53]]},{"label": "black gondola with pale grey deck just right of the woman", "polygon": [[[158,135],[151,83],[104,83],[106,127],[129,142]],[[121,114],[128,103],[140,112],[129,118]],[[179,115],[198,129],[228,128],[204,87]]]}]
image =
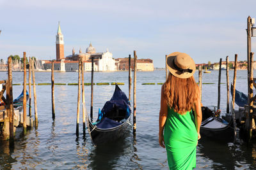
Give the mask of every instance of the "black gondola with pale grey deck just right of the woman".
[{"label": "black gondola with pale grey deck just right of the woman", "polygon": [[236,139],[234,120],[231,119],[230,122],[227,122],[220,117],[211,115],[203,120],[200,127],[200,134],[202,138],[211,138],[225,143],[234,142]]}]

